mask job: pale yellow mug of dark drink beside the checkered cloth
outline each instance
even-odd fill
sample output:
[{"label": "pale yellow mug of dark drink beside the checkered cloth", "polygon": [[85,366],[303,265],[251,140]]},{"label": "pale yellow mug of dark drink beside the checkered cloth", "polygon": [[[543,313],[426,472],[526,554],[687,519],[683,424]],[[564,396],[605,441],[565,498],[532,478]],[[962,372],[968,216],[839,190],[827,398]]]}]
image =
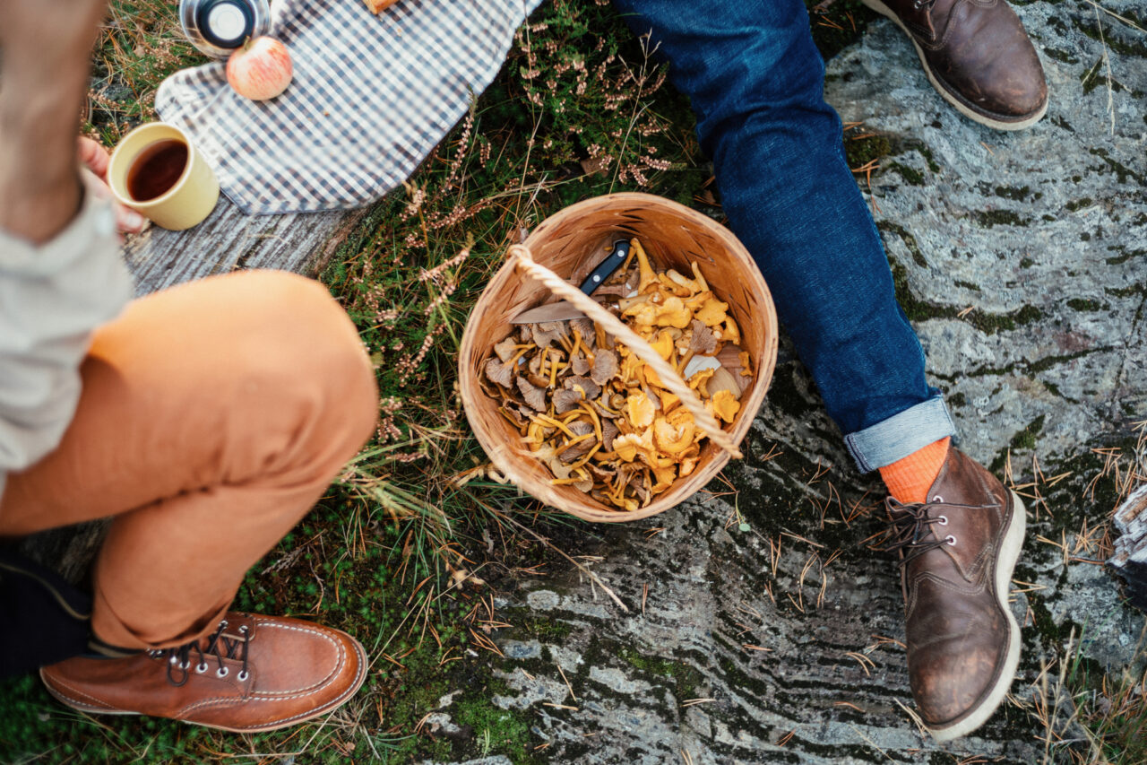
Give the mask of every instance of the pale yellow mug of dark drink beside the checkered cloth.
[{"label": "pale yellow mug of dark drink beside the checkered cloth", "polygon": [[140,125],[119,141],[108,185],[120,204],[171,231],[202,223],[219,200],[219,181],[203,154],[184,131],[162,122]]}]

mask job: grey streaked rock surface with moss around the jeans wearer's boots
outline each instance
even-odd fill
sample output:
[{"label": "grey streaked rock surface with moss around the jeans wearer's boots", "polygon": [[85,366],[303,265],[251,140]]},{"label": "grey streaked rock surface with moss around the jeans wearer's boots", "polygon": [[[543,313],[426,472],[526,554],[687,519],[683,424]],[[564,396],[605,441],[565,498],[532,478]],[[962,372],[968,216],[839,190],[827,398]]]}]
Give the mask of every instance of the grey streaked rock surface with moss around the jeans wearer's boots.
[{"label": "grey streaked rock surface with moss around the jeans wearer's boots", "polygon": [[1013,609],[1024,658],[1012,698],[946,748],[913,724],[897,567],[863,544],[880,528],[882,493],[851,470],[782,353],[748,456],[724,482],[647,521],[562,534],[570,555],[601,556],[586,565],[627,612],[563,563],[497,603],[510,624],[533,625],[499,634],[508,690],[493,703],[531,716],[544,747],[535,757],[1060,762],[1067,752],[1040,739],[1048,726],[1066,739],[1078,729],[1062,708],[1050,724],[1032,713],[1033,700],[1063,698],[1058,662],[1139,660],[1142,615],[1087,562],[1097,551],[1082,532],[1103,523],[1115,495],[1109,479],[1091,482],[1102,459],[1089,450],[1128,439],[1147,409],[1147,37],[1099,14],[1109,109],[1095,9],[1017,10],[1053,99],[1032,130],[960,117],[884,21],[830,62],[827,86],[845,121],[891,146],[873,177],[875,217],[963,448],[1035,482],[1021,486],[1029,536]]}]

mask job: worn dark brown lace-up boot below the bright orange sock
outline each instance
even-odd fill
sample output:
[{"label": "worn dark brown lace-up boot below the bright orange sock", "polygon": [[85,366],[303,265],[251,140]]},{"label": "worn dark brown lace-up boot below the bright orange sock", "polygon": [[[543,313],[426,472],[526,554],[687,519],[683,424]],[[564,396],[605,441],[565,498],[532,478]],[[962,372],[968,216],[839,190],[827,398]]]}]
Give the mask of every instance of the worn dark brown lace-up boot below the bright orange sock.
[{"label": "worn dark brown lace-up boot below the bright orange sock", "polygon": [[900,552],[908,678],[937,741],[967,735],[1004,701],[1020,663],[1008,608],[1023,503],[951,448],[923,504],[887,500]]}]

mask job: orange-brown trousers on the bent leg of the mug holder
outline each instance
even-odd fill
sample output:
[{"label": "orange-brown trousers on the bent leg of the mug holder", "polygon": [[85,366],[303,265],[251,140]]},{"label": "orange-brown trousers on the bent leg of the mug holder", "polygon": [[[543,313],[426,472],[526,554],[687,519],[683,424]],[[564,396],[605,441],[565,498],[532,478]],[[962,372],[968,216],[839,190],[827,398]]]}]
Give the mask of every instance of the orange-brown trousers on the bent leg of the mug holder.
[{"label": "orange-brown trousers on the bent leg of the mug holder", "polygon": [[377,416],[354,325],[321,285],[286,272],[134,301],[95,333],[80,373],[63,441],[8,477],[0,535],[115,516],[92,627],[123,648],[213,629]]}]

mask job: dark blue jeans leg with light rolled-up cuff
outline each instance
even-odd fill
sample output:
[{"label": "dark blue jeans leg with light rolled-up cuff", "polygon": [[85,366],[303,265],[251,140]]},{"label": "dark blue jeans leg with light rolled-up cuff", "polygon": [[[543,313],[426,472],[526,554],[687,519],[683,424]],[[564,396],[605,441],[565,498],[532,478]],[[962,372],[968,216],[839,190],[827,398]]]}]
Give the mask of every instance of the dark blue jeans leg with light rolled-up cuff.
[{"label": "dark blue jeans leg with light rolled-up cuff", "polygon": [[802,0],[614,0],[689,96],[729,227],[868,472],[954,432],[825,103]]}]

